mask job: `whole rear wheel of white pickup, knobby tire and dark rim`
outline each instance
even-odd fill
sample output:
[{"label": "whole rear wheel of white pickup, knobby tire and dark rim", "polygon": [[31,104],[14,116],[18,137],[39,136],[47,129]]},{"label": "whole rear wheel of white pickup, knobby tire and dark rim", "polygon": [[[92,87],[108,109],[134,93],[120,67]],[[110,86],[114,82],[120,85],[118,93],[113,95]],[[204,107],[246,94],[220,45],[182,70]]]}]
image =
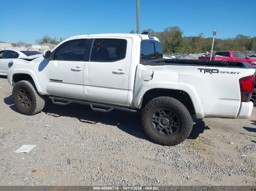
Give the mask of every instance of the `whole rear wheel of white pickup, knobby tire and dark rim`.
[{"label": "whole rear wheel of white pickup, knobby tire and dark rim", "polygon": [[148,138],[167,146],[185,141],[193,127],[188,109],[172,97],[157,97],[148,102],[141,123]]}]

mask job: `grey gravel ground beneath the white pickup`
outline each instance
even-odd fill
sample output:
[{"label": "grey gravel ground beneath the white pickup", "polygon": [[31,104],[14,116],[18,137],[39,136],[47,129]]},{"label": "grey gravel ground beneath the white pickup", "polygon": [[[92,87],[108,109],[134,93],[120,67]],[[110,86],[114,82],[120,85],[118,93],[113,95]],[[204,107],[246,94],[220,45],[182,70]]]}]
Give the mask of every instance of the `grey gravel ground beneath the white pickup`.
[{"label": "grey gravel ground beneath the white pickup", "polygon": [[[140,116],[78,104],[18,113],[0,77],[0,185],[256,185],[250,119],[194,119],[174,147],[152,143]],[[29,153],[13,153],[23,144]]]}]

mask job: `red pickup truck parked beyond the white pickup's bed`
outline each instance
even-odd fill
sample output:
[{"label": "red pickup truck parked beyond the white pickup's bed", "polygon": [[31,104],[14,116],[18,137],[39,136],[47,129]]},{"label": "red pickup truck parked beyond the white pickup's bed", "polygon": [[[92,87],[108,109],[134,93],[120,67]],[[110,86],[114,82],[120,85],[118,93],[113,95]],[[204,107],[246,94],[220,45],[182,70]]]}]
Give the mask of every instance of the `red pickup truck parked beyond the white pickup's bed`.
[{"label": "red pickup truck parked beyond the white pickup's bed", "polygon": [[199,60],[218,60],[218,61],[239,61],[248,62],[251,65],[256,65],[256,59],[251,59],[243,52],[239,51],[219,51],[215,56],[200,56]]}]

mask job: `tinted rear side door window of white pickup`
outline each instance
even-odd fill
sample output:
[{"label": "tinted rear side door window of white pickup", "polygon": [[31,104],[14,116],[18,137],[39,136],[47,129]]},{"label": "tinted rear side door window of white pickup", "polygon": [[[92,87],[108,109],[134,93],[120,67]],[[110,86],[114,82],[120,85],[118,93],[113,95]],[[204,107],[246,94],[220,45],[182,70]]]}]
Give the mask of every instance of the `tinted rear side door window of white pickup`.
[{"label": "tinted rear side door window of white pickup", "polygon": [[126,55],[124,39],[95,39],[91,49],[91,62],[115,62]]}]

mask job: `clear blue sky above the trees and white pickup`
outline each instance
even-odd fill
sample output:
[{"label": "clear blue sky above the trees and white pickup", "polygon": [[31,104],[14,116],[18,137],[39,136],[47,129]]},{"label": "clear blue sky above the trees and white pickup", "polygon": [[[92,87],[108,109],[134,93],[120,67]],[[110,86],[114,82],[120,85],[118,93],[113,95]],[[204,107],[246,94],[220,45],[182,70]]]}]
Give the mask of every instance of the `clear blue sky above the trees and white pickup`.
[{"label": "clear blue sky above the trees and white pickup", "polygon": [[[0,15],[0,41],[11,43],[137,28],[136,0],[2,1]],[[216,38],[254,37],[255,21],[255,0],[140,0],[140,30],[178,26],[185,36],[212,37],[217,30]]]}]

